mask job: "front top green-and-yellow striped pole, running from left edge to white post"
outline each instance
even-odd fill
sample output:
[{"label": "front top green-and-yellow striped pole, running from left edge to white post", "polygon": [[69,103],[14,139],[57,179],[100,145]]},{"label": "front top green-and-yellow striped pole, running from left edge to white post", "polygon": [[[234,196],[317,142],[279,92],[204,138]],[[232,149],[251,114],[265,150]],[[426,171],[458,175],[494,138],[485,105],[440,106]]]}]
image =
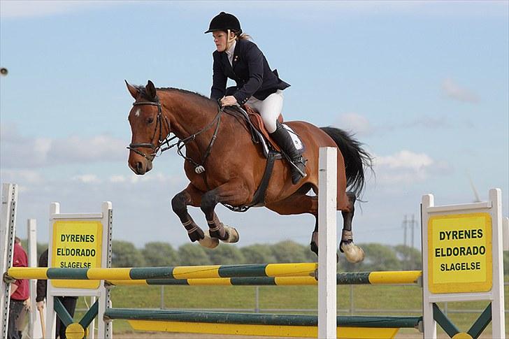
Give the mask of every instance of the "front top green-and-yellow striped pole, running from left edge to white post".
[{"label": "front top green-and-yellow striped pole, running from left edge to white post", "polygon": [[145,268],[22,268],[8,269],[15,279],[52,280],[144,280],[201,279],[217,277],[315,277],[318,265],[248,264],[210,266],[169,266]]}]

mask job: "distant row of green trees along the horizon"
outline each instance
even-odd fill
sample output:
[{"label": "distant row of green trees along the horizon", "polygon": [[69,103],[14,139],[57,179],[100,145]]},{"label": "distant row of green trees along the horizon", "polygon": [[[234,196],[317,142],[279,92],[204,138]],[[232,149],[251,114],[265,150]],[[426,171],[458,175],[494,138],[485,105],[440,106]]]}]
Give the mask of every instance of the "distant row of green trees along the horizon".
[{"label": "distant row of green trees along the horizon", "polygon": [[[22,242],[26,247],[26,240]],[[338,271],[405,271],[421,270],[422,257],[420,250],[406,245],[383,245],[380,243],[360,244],[366,257],[359,264],[350,264],[345,256],[338,251]],[[40,255],[47,244],[37,244]],[[214,250],[202,247],[197,243],[187,243],[174,248],[169,243],[146,243],[137,248],[133,243],[113,240],[113,267],[144,267],[144,266],[187,266],[187,265],[234,265],[234,264],[273,264],[316,262],[317,256],[310,251],[308,245],[301,245],[292,240],[281,241],[272,245],[254,244],[243,247],[220,244]],[[509,252],[503,252],[504,274],[509,275]]]}]

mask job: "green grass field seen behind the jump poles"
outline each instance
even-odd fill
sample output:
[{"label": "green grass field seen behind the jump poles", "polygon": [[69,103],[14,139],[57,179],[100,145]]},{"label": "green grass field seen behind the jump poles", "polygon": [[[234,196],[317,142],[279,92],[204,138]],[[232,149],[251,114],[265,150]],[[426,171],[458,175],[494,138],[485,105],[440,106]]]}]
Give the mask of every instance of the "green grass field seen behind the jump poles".
[{"label": "green grass field seen behind the jump poles", "polygon": [[[164,287],[164,308],[238,308],[253,309],[256,287],[246,286],[166,286]],[[112,301],[115,308],[160,308],[161,287],[159,286],[122,286],[112,289]],[[355,285],[353,287],[354,315],[422,315],[422,289],[415,285]],[[509,287],[505,287],[506,309],[509,301]],[[484,310],[487,301],[468,303],[448,303],[448,317],[461,331],[467,331],[479,314],[454,313],[453,310]],[[83,298],[77,308],[85,308]],[[259,308],[263,309],[301,309],[317,308],[317,287],[315,286],[262,286],[259,287]],[[440,305],[442,310],[445,305]],[[338,287],[338,309],[350,310],[350,287]],[[385,310],[386,312],[368,312],[367,310]],[[418,312],[413,312],[418,310]],[[288,313],[288,312],[272,312]],[[306,312],[299,312],[306,313]],[[307,312],[306,314],[310,314]],[[311,312],[313,314],[313,312]],[[76,312],[80,319],[83,312]],[[340,312],[350,315],[350,312]],[[507,315],[507,313],[506,313]],[[509,337],[508,319],[506,332]],[[133,333],[127,321],[113,322],[114,333]],[[417,330],[401,329],[403,337],[412,336]],[[444,333],[438,326],[438,333]],[[485,334],[491,333],[491,325]],[[484,337],[484,336],[483,336]],[[124,337],[128,338],[128,337]],[[158,337],[162,338],[162,337]],[[191,338],[191,337],[189,337]]]}]

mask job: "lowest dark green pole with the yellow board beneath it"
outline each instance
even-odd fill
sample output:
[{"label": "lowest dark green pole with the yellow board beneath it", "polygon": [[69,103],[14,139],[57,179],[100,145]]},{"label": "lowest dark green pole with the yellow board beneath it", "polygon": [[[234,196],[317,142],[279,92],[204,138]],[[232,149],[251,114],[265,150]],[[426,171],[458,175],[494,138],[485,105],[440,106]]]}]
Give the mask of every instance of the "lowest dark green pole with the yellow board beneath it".
[{"label": "lowest dark green pole with the yellow board beneath it", "polygon": [[[110,308],[106,319],[125,319],[139,331],[215,333],[245,336],[322,338],[317,316]],[[416,328],[422,317],[336,317],[339,338],[394,338],[400,328]]]}]

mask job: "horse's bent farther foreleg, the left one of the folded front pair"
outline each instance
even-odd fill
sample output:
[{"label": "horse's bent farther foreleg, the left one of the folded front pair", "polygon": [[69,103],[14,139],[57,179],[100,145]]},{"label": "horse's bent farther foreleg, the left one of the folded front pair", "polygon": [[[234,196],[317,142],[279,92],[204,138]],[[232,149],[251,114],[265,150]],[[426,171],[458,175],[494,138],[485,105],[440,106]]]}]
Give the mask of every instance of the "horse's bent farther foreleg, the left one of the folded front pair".
[{"label": "horse's bent farther foreleg, the left one of the folded front pair", "polygon": [[187,212],[188,205],[195,207],[200,205],[201,194],[198,189],[189,184],[186,189],[171,199],[171,208],[180,219],[180,222],[182,222],[182,226],[186,229],[187,235],[192,242],[199,241],[200,245],[213,248],[217,246],[217,240],[211,240],[210,236],[207,238],[203,229],[194,222],[189,212]]}]

